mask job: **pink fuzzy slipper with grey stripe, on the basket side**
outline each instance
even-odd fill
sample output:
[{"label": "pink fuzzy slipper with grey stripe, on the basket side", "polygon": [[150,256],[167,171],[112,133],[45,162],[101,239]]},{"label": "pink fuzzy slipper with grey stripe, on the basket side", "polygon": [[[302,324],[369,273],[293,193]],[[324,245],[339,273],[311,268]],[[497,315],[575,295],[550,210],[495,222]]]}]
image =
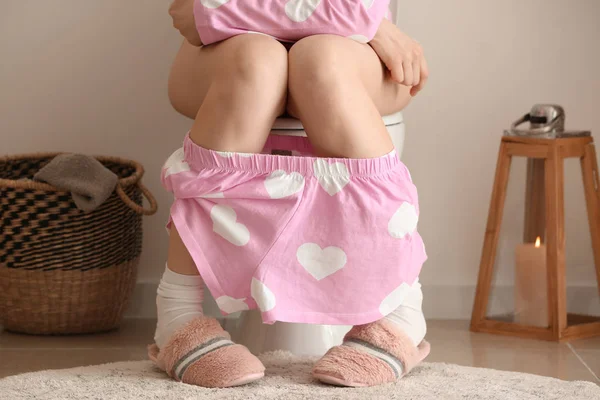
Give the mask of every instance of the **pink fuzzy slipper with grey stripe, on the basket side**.
[{"label": "pink fuzzy slipper with grey stripe, on the basket side", "polygon": [[148,356],[171,378],[190,385],[232,387],[262,378],[260,360],[229,339],[216,319],[197,318],[175,332],[163,349],[148,346]]}]

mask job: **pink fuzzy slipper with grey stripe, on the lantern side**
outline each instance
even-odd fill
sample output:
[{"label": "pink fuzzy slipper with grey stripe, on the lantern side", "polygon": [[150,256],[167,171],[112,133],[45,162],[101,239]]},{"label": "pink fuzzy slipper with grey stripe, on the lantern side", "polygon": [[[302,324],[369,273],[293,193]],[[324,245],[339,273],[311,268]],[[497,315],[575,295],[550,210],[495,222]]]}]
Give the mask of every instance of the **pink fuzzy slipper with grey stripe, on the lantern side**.
[{"label": "pink fuzzy slipper with grey stripe, on the lantern side", "polygon": [[388,321],[355,326],[344,343],[330,349],[313,368],[323,383],[362,387],[395,382],[429,355],[429,343],[415,347]]}]

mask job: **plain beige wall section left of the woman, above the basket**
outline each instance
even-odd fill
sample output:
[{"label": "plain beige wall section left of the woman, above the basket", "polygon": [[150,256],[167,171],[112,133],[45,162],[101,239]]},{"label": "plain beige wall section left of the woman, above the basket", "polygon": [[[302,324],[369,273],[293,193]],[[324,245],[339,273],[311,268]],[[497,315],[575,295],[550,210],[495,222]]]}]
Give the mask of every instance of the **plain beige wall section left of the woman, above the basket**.
[{"label": "plain beige wall section left of the woman, above the basket", "polygon": [[0,152],[128,157],[160,212],[145,219],[140,280],[164,269],[169,196],[160,167],[190,126],[167,98],[180,44],[168,2],[2,0]]}]

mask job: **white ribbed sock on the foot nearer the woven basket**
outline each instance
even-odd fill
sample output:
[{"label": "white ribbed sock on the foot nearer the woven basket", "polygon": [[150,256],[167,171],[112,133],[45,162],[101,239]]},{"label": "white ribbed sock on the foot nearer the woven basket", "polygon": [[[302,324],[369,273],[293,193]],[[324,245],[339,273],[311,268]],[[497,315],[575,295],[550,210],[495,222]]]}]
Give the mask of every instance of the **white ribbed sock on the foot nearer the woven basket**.
[{"label": "white ribbed sock on the foot nearer the woven basket", "polygon": [[158,348],[166,345],[181,326],[203,315],[203,300],[204,282],[200,275],[181,275],[165,268],[156,295],[158,322],[154,341]]}]

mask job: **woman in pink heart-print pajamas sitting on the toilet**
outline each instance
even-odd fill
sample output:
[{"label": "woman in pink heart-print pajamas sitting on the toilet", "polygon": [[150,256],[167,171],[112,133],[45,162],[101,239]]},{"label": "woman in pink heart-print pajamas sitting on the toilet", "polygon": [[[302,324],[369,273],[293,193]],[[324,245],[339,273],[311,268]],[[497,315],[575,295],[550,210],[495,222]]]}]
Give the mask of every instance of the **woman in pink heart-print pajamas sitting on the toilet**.
[{"label": "woman in pink heart-print pajamas sitting on the toilet", "polygon": [[[429,353],[417,192],[381,119],[409,103],[428,69],[421,46],[385,18],[388,3],[172,3],[186,40],[169,97],[195,122],[162,173],[175,201],[149,354],[174,379],[229,387],[264,375],[203,316],[204,282],[226,314],[354,325],[314,368],[326,383],[391,382]],[[284,113],[308,141],[269,138]]]}]

